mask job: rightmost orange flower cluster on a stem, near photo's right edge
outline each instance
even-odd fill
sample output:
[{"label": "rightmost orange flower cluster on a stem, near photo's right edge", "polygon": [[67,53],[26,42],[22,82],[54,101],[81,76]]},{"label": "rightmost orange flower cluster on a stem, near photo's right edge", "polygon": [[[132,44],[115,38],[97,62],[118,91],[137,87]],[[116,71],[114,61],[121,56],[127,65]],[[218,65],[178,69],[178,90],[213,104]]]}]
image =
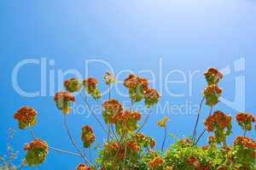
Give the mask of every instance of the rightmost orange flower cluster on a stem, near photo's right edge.
[{"label": "rightmost orange flower cluster on a stem, near photo's right edge", "polygon": [[249,131],[252,129],[252,122],[255,122],[255,117],[249,113],[238,113],[236,121],[244,130]]}]

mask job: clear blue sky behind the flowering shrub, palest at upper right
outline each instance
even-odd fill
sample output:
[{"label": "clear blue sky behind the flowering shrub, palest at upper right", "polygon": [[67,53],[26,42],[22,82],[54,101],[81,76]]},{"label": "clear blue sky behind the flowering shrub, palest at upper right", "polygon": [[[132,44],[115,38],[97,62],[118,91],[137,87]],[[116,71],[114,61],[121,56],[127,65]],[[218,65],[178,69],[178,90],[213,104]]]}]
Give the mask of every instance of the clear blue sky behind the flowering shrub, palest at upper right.
[{"label": "clear blue sky behind the flowering shrub, palest at upper right", "polygon": [[[22,105],[30,105],[38,111],[38,124],[34,131],[39,137],[50,145],[73,150],[62,125],[61,112],[55,108],[49,94],[52,82],[49,80],[49,71],[53,71],[57,77],[60,70],[76,69],[84,77],[86,59],[102,59],[113,67],[115,73],[150,70],[158,81],[154,84],[158,89],[165,84],[165,80],[160,81],[160,77],[166,77],[170,71],[182,71],[187,78],[189,71],[200,71],[193,78],[192,86],[189,80],[167,86],[172,92],[184,94],[182,97],[174,97],[163,89],[160,103],[169,101],[170,105],[179,106],[186,101],[191,102],[191,105],[200,102],[201,90],[206,85],[201,75],[203,71],[208,67],[221,69],[230,65],[230,74],[220,83],[224,89],[223,96],[231,101],[235,99],[236,77],[245,76],[245,110],[255,115],[255,18],[256,3],[253,0],[1,1],[0,93],[3,121],[0,123],[0,140],[3,142],[0,144],[0,153],[5,150],[8,128],[17,129],[13,114]],[[47,62],[46,95],[25,97],[18,94],[12,83],[15,65],[24,59],[41,58]],[[242,58],[246,61],[245,71],[234,71],[234,62]],[[50,59],[55,61],[54,65],[49,65]],[[106,65],[93,63],[89,65],[88,74],[101,79],[106,69]],[[148,73],[143,76],[150,79]],[[122,74],[119,79],[124,77],[125,74]],[[40,89],[40,78],[39,65],[26,65],[18,74],[20,88],[28,92]],[[180,78],[181,75],[172,74],[169,80]],[[56,78],[54,82],[57,83]],[[100,88],[105,89],[103,84]],[[113,97],[125,99],[120,98],[116,91],[113,91]],[[107,95],[103,99],[107,99]],[[79,99],[78,102],[81,103]],[[237,105],[241,104],[238,102]],[[232,116],[237,112],[223,103],[219,103],[217,109]],[[207,107],[203,110],[205,115],[207,110]],[[178,133],[179,137],[191,134],[195,116],[172,111],[165,114],[171,117],[168,127],[170,133]],[[155,124],[160,118],[162,115],[153,114],[143,129],[144,133],[157,139],[159,145],[161,129],[155,128]],[[102,143],[104,133],[93,117],[72,114],[68,122],[78,141],[80,127],[90,124],[96,133],[96,143]],[[233,124],[229,143],[235,135],[241,134],[237,123],[233,121]],[[206,142],[207,135],[201,144]],[[250,136],[255,139],[254,132]],[[12,144],[15,150],[20,150],[20,157],[24,156],[23,144],[30,140],[26,131],[16,131]],[[172,142],[172,139],[168,139],[166,146]],[[65,169],[72,169],[80,161],[77,157],[51,150],[39,169],[61,169],[63,163]]]}]

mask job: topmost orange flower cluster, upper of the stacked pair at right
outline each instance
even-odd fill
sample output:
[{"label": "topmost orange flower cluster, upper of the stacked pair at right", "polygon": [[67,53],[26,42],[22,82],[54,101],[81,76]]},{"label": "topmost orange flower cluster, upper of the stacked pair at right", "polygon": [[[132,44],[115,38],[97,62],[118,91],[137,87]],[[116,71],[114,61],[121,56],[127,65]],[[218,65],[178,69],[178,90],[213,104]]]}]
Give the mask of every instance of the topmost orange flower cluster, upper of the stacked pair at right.
[{"label": "topmost orange flower cluster, upper of the stacked pair at right", "polygon": [[219,80],[222,79],[223,75],[217,69],[209,68],[205,72],[205,77],[207,79],[208,85],[211,85],[211,84],[217,84]]}]

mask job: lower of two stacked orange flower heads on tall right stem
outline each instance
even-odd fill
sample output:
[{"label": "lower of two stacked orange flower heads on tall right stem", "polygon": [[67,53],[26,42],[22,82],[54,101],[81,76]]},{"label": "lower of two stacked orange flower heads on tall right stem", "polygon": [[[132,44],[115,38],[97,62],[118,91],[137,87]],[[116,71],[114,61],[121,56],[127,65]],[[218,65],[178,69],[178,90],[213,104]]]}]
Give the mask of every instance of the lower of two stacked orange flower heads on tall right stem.
[{"label": "lower of two stacked orange flower heads on tall right stem", "polygon": [[222,93],[222,89],[218,88],[218,85],[212,84],[205,88],[203,94],[206,99],[206,105],[216,105],[218,103],[219,95]]}]

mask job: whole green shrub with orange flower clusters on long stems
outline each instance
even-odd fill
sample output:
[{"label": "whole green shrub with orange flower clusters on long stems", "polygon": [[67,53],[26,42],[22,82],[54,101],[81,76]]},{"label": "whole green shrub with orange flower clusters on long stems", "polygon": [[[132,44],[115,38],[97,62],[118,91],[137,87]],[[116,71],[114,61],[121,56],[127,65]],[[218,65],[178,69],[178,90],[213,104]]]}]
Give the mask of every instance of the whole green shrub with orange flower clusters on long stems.
[{"label": "whole green shrub with orange flower clusters on long stems", "polygon": [[[88,77],[84,81],[76,78],[68,79],[64,82],[66,92],[55,94],[56,107],[62,112],[64,125],[67,135],[71,139],[76,151],[59,150],[48,145],[41,139],[38,139],[32,132],[32,126],[36,124],[37,112],[28,106],[20,108],[15,113],[15,119],[19,123],[20,129],[30,127],[32,142],[26,144],[26,163],[28,166],[38,166],[43,163],[47,157],[48,150],[55,150],[70,156],[80,156],[81,164],[76,169],[132,169],[132,170],[255,170],[256,169],[256,143],[253,139],[246,137],[246,132],[253,127],[255,118],[249,113],[238,113],[236,121],[244,130],[243,136],[237,136],[233,144],[228,145],[226,138],[231,133],[232,116],[224,114],[222,111],[213,111],[213,107],[218,104],[218,98],[222,89],[218,87],[218,82],[223,75],[214,68],[210,68],[205,73],[207,87],[203,91],[201,107],[205,104],[210,107],[204,125],[205,129],[197,136],[197,126],[201,116],[201,107],[195,120],[192,136],[183,139],[177,139],[175,144],[164,150],[166,142],[166,126],[169,117],[164,117],[157,122],[157,125],[164,129],[161,150],[154,150],[155,140],[141,133],[143,126],[148,120],[148,114],[145,121],[139,126],[141,113],[134,111],[133,106],[140,101],[144,102],[145,107],[152,111],[154,105],[159,102],[160,94],[154,89],[148,87],[148,80],[136,75],[130,75],[124,80],[124,86],[127,88],[131,99],[131,108],[124,108],[119,100],[111,98],[109,92],[108,100],[102,103],[102,117],[104,122],[96,116],[91,109],[88,99],[84,95],[91,96],[92,99],[100,99],[102,94],[97,88],[98,81],[94,77]],[[113,75],[107,71],[104,76],[104,82],[107,86],[112,86],[115,82]],[[81,91],[81,89],[84,89]],[[75,101],[72,93],[78,92],[84,100],[84,105],[88,111],[96,118],[99,126],[106,133],[106,140],[102,143],[102,149],[99,150],[95,161],[89,161],[89,158],[83,154],[79,144],[73,139],[67,125],[67,116],[71,111],[70,104]],[[83,94],[85,93],[85,94]],[[256,127],[254,125],[254,127]],[[198,142],[204,133],[213,133],[209,136],[208,143],[198,146]],[[96,141],[93,129],[89,125],[82,127],[81,141],[84,149],[90,148],[90,145]],[[75,165],[74,165],[75,167]]]}]

